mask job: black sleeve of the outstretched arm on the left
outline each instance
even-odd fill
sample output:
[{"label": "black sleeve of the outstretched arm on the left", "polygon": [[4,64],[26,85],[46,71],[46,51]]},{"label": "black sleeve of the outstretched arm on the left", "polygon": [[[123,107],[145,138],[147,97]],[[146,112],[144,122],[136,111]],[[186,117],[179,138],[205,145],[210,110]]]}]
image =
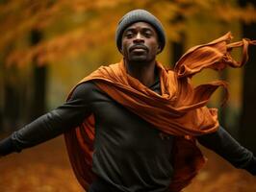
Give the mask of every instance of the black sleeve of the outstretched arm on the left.
[{"label": "black sleeve of the outstretched arm on the left", "polygon": [[0,141],[0,155],[20,152],[77,127],[91,113],[92,87],[92,83],[78,85],[64,105],[38,117]]}]

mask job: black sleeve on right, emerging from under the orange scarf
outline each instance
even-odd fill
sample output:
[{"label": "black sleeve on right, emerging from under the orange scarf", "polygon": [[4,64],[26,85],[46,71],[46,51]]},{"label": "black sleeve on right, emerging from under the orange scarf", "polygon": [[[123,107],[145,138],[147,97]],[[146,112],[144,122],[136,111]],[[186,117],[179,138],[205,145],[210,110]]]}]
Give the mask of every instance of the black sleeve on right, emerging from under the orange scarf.
[{"label": "black sleeve on right, emerging from under the orange scarf", "polygon": [[218,132],[198,136],[197,140],[200,144],[213,150],[235,167],[245,169],[252,175],[256,175],[255,156],[222,127],[219,127]]}]

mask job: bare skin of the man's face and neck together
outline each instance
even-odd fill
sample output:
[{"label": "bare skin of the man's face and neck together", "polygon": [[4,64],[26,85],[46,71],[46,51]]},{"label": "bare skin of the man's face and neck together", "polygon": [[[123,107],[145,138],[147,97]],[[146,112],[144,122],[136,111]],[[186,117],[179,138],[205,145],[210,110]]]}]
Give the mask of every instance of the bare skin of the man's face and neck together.
[{"label": "bare skin of the man's face and neck together", "polygon": [[161,52],[156,30],[148,23],[136,22],[122,35],[121,53],[127,73],[141,84],[150,86],[156,80],[156,56]]}]

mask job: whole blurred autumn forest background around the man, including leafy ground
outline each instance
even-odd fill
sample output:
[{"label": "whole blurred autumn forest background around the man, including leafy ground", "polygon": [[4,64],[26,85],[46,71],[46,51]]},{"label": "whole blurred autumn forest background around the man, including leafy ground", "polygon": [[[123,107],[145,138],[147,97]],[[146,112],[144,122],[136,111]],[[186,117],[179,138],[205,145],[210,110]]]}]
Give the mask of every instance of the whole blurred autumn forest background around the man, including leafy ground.
[{"label": "whole blurred autumn forest background around the man, including leafy ground", "polygon": [[[166,67],[190,47],[231,32],[256,39],[255,0],[0,0],[0,139],[64,103],[69,90],[100,65],[121,59],[115,29],[133,9],[154,13],[166,29]],[[233,56],[240,60],[241,50]],[[256,155],[256,46],[240,69],[204,70],[193,84],[222,79],[209,106],[219,121]],[[185,192],[253,192],[256,179],[202,148],[208,164]],[[63,136],[0,158],[0,191],[83,191],[74,178]]]}]

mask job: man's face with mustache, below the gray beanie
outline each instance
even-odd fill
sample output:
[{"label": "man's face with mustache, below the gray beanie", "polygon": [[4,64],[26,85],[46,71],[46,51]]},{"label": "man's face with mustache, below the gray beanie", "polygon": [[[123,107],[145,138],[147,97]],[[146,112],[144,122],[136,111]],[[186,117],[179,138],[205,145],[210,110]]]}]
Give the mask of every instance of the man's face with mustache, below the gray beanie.
[{"label": "man's face with mustache, below the gray beanie", "polygon": [[148,23],[134,23],[123,32],[121,52],[126,60],[155,60],[160,50],[157,33]]}]

